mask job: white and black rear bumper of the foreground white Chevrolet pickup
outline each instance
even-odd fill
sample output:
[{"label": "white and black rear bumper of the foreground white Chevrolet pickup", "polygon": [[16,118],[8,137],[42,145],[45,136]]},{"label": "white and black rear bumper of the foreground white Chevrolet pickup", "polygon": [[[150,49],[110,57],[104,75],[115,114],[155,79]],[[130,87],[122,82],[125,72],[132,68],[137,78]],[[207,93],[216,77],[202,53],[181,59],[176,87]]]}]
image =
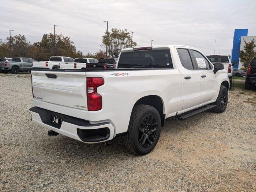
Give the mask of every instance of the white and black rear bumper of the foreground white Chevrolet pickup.
[{"label": "white and black rear bumper of the foreground white Chevrolet pickup", "polygon": [[86,120],[39,107],[32,107],[29,112],[32,122],[84,143],[104,142],[114,137],[114,127],[110,122],[91,124]]}]

